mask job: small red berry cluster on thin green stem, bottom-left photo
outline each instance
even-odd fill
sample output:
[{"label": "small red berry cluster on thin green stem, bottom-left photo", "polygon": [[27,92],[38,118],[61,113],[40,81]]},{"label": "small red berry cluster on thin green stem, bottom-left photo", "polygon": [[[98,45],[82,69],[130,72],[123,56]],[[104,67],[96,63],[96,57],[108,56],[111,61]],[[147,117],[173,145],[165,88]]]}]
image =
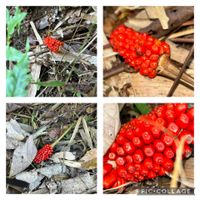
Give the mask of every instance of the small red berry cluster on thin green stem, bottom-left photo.
[{"label": "small red berry cluster on thin green stem, bottom-left photo", "polygon": [[42,161],[48,160],[53,153],[53,148],[50,144],[44,145],[35,156],[33,162],[39,164]]}]

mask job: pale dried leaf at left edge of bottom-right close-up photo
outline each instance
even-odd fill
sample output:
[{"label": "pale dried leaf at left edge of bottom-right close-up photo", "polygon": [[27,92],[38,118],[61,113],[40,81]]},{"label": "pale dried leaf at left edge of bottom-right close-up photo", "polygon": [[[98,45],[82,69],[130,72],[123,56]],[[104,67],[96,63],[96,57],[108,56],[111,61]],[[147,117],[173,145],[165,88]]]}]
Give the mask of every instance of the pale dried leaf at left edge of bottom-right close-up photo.
[{"label": "pale dried leaf at left edge of bottom-right close-up photo", "polygon": [[119,106],[118,104],[104,104],[104,134],[103,134],[103,153],[105,154],[114,142],[120,128]]}]

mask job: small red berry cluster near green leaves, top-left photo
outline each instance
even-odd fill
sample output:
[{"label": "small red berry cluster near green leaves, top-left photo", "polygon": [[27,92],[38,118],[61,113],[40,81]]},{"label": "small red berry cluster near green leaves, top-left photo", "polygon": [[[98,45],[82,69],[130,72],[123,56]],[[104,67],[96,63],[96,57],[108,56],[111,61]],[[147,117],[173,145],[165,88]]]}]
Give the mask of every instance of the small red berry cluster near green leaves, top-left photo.
[{"label": "small red berry cluster near green leaves, top-left photo", "polygon": [[52,37],[44,38],[44,44],[49,48],[50,51],[54,53],[58,53],[61,46],[63,46],[63,42],[56,40]]}]

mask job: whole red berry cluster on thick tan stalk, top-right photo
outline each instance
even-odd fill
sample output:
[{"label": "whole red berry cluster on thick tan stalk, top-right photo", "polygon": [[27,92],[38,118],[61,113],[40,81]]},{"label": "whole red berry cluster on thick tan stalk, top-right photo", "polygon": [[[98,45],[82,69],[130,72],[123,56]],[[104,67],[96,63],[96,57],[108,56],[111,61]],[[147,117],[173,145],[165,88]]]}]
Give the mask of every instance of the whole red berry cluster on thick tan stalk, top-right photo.
[{"label": "whole red berry cluster on thick tan stalk, top-right photo", "polygon": [[110,35],[110,44],[119,52],[125,62],[141,75],[154,78],[158,59],[162,54],[170,54],[169,45],[146,34],[139,33],[124,25],[117,27]]}]

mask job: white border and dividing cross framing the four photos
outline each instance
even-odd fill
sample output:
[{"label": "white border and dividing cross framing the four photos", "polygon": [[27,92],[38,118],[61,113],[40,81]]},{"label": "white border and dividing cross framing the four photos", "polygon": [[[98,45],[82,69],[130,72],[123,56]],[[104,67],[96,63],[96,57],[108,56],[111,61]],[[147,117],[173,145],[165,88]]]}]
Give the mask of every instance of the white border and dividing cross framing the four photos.
[{"label": "white border and dividing cross framing the four photos", "polygon": [[[97,97],[67,97],[67,98],[6,98],[6,6],[97,6]],[[194,97],[103,97],[103,6],[195,6],[195,93]],[[103,148],[103,104],[104,103],[168,103],[168,102],[187,102],[195,104],[195,195],[194,196],[162,196],[163,199],[199,199],[200,198],[200,1],[198,0],[1,0],[0,2],[0,80],[2,87],[0,88],[0,199],[38,199],[57,200],[57,199],[122,199],[122,198],[148,198],[156,199],[161,196],[135,196],[135,195],[105,195],[102,192],[102,148]],[[97,128],[98,128],[98,193],[93,195],[77,195],[77,194],[56,194],[56,195],[14,195],[6,194],[6,103],[97,103]]]}]

